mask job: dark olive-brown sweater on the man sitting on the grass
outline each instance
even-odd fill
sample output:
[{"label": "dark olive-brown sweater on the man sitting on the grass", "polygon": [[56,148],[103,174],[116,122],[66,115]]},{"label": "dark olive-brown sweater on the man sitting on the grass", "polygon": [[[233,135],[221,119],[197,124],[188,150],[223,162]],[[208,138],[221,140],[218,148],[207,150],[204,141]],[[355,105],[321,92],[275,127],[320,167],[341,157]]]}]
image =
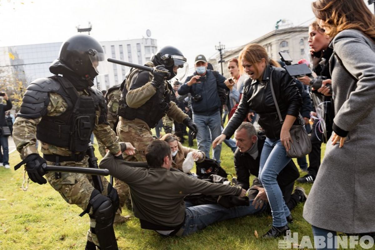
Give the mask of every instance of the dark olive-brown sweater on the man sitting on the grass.
[{"label": "dark olive-brown sweater on the man sitting on the grass", "polygon": [[192,178],[180,171],[165,168],[135,168],[131,162],[115,159],[108,153],[99,164],[111,175],[129,185],[135,217],[156,225],[175,227],[185,217],[184,197],[205,195],[240,195],[241,188],[214,184]]}]

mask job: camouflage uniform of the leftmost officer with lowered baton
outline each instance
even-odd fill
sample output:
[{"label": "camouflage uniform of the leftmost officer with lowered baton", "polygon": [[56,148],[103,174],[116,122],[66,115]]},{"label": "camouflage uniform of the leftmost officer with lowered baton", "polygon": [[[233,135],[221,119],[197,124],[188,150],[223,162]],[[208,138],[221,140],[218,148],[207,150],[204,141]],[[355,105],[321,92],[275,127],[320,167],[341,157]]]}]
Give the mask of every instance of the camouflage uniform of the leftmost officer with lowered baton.
[{"label": "camouflage uniform of the leftmost officer with lowered baton", "polygon": [[[86,94],[84,91],[78,91],[81,96]],[[66,111],[68,104],[60,94],[49,92],[49,103],[47,106],[47,116],[58,116]],[[101,111],[96,111],[97,117]],[[31,119],[17,117],[13,125],[13,140],[17,147],[18,152],[22,159],[26,158],[29,154],[39,154],[36,147],[36,126],[42,120],[42,117]],[[99,141],[101,141],[111,151],[112,154],[117,154],[121,148],[115,138],[115,133],[111,128],[105,124],[96,124],[94,127],[94,134]],[[51,144],[42,144],[43,154],[55,154],[58,156],[71,156],[72,152],[68,148],[57,147]],[[60,162],[61,166],[81,166],[88,167],[88,156],[85,156],[80,162]],[[55,165],[54,162],[47,161],[48,165]],[[56,178],[53,172],[45,175],[49,184],[60,193],[60,195],[69,204],[75,204],[78,207],[86,210],[89,204],[90,196],[93,190],[93,181],[91,175],[74,174],[74,173],[61,173],[61,178]],[[104,187],[103,195],[107,195],[108,181],[102,177]],[[90,210],[92,213],[92,209]],[[95,228],[95,220],[90,218],[90,227]],[[95,234],[90,230],[87,233],[87,240],[99,246],[98,239]]]}]

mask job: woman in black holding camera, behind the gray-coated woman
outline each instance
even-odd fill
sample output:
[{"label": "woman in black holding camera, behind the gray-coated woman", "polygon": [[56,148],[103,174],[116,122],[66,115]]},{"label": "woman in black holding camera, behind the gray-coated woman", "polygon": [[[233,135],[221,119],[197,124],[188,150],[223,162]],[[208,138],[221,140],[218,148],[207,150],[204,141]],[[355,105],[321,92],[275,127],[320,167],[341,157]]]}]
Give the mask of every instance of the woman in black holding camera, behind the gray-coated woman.
[{"label": "woman in black holding camera, behind the gray-coated woman", "polygon": [[[312,85],[314,90],[312,90],[313,95],[321,96],[326,95],[332,88],[330,88],[331,74],[329,70],[329,58],[333,53],[333,49],[329,48],[329,44],[332,38],[324,34],[324,29],[319,26],[319,24],[314,21],[309,25],[309,46],[310,52],[313,58],[313,71],[317,74],[317,77],[310,79],[308,76],[299,77],[298,79],[305,85]],[[328,82],[328,84],[326,84]],[[322,84],[326,84],[321,87]],[[316,86],[316,87],[314,87]],[[319,87],[319,88],[318,88]],[[318,169],[320,166],[320,154],[322,142],[327,142],[327,138],[330,138],[332,134],[332,124],[333,118],[335,117],[335,111],[333,107],[332,96],[322,96],[320,98],[324,102],[324,121],[326,124],[326,136],[318,128],[318,119],[314,119],[314,124],[312,125],[311,131],[311,145],[312,150],[309,154],[310,166],[308,168],[308,174],[302,178],[298,178],[299,183],[312,183],[317,176]],[[316,103],[314,103],[316,105]],[[315,109],[321,107],[315,106]],[[317,117],[317,113],[313,114]],[[326,137],[326,138],[325,138]]]}]

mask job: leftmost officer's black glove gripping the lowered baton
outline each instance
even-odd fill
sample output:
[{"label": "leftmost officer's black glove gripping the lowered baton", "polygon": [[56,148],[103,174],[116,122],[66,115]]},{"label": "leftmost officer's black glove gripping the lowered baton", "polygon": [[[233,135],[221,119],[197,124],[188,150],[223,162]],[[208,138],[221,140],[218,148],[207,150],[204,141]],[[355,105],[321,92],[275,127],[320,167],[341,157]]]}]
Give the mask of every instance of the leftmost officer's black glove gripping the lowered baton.
[{"label": "leftmost officer's black glove gripping the lowered baton", "polygon": [[43,175],[45,175],[46,172],[42,167],[43,164],[47,163],[45,159],[40,157],[39,154],[29,154],[26,157],[25,161],[27,175],[30,178],[30,180],[40,185],[46,184],[47,180],[43,177]]}]

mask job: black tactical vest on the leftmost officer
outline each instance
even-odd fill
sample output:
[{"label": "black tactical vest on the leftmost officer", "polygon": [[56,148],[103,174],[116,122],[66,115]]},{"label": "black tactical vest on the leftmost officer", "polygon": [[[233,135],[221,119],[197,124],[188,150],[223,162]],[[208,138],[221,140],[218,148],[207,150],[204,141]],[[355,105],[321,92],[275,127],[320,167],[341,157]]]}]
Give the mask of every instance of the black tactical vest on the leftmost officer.
[{"label": "black tactical vest on the leftmost officer", "polygon": [[[44,115],[37,125],[36,137],[40,141],[57,147],[69,148],[72,152],[84,152],[96,123],[106,121],[105,114],[96,117],[96,110],[106,111],[105,100],[95,89],[88,89],[89,96],[79,96],[66,78],[52,76],[61,88],[52,90],[60,94],[68,107],[58,116]],[[104,113],[102,112],[102,113]]]}]

